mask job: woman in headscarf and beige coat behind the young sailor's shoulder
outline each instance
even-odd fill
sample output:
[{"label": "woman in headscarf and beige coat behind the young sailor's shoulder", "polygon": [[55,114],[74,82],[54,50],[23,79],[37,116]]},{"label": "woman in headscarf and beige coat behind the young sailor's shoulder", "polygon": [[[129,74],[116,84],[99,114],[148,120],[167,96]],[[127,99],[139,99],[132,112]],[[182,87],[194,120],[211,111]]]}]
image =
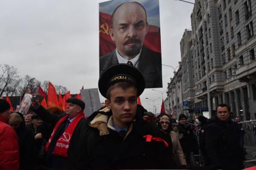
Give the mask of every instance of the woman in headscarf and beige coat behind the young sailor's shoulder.
[{"label": "woman in headscarf and beige coat behind the young sailor's shoulder", "polygon": [[170,138],[172,139],[172,153],[177,161],[177,165],[179,166],[187,166],[186,159],[183,154],[183,149],[181,148],[180,141],[178,139],[178,135],[172,131],[170,117],[167,114],[163,114],[159,117],[158,127],[166,133],[170,134]]}]

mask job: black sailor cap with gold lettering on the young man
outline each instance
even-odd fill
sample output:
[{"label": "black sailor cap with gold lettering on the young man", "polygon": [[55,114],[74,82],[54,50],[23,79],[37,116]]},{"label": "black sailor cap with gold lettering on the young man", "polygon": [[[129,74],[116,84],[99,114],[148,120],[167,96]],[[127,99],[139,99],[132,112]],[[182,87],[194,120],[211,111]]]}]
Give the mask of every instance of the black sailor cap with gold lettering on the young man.
[{"label": "black sailor cap with gold lettering on the young man", "polygon": [[129,64],[116,64],[108,67],[99,77],[99,92],[107,98],[108,88],[117,82],[131,82],[137,88],[138,96],[145,89],[145,80],[140,71]]}]

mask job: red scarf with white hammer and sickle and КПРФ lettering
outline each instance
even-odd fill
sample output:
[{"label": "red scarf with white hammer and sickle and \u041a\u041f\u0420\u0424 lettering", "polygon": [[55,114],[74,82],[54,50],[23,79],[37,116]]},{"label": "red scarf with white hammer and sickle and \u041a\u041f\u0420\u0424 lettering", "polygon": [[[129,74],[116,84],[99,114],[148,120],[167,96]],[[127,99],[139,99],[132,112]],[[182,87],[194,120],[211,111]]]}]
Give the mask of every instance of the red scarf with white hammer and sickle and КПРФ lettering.
[{"label": "red scarf with white hammer and sickle and \u041a\u041f\u0420\u0424 lettering", "polygon": [[[67,150],[69,149],[70,139],[72,138],[73,131],[75,130],[76,125],[80,122],[80,120],[84,117],[84,114],[78,114],[75,119],[67,126],[67,129],[63,132],[63,135],[58,138],[54,151],[52,154],[61,157],[67,157]],[[52,131],[52,135],[45,146],[45,150],[48,151],[49,145],[51,144],[52,138],[55,136],[55,133],[63,121],[67,119],[67,115],[61,118],[58,123],[55,125],[54,130]]]}]

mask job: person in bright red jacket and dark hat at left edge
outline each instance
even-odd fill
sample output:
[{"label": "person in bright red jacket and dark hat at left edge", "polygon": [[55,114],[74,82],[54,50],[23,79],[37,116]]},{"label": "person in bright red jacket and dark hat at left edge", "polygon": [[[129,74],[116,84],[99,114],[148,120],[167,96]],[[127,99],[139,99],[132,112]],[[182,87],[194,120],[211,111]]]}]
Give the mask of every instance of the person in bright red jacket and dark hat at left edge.
[{"label": "person in bright red jacket and dark hat at left edge", "polygon": [[11,170],[19,169],[19,144],[18,138],[11,126],[10,105],[0,99],[0,169]]}]

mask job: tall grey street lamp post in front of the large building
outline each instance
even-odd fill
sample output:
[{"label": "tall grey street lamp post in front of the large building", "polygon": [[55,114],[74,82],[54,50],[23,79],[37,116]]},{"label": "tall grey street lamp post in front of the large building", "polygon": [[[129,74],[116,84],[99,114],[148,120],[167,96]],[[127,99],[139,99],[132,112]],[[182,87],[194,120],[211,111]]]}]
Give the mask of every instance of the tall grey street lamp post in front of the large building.
[{"label": "tall grey street lamp post in front of the large building", "polygon": [[[204,6],[206,4],[208,4],[209,2],[212,2],[212,1],[215,1],[215,0],[207,0],[207,2],[205,3],[204,1],[204,5],[202,7],[200,7],[198,4],[195,4],[193,2],[189,2],[189,1],[184,1],[184,0],[175,0],[175,1],[181,1],[181,2],[186,2],[188,4],[193,4],[193,5],[196,5],[196,7],[199,8],[200,10],[200,13],[202,14],[202,8],[204,8]],[[206,42],[206,38],[205,38],[205,25],[204,25],[204,19],[202,17],[202,34],[203,34],[203,38],[204,38],[204,44]],[[204,47],[204,53],[206,54],[207,53],[207,49],[206,47]],[[208,59],[207,59],[207,56],[204,57],[205,59],[205,74],[206,74],[206,88],[207,88],[207,105],[208,105],[208,112],[209,112],[209,115],[211,117],[211,99],[210,99],[210,91],[209,91],[209,80],[208,80]]]}]

